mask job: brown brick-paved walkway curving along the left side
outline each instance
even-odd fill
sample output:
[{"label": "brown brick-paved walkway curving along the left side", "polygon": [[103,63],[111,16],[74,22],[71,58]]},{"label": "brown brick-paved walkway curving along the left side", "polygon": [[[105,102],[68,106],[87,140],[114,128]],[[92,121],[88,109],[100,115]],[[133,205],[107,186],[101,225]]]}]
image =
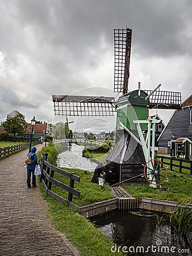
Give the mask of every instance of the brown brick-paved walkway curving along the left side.
[{"label": "brown brick-paved walkway curving along the left side", "polygon": [[0,161],[0,255],[80,255],[51,224],[40,188],[27,189],[27,152]]}]

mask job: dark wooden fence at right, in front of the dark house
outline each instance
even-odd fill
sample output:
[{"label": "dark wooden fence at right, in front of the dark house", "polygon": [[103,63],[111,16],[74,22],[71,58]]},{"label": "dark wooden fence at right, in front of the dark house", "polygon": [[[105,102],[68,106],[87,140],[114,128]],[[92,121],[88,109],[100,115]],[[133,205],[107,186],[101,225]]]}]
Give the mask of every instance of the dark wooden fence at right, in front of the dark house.
[{"label": "dark wooden fence at right, in front of the dark house", "polygon": [[[192,175],[192,161],[185,160],[183,158],[169,158],[168,156],[157,156],[157,158],[161,158],[161,162],[170,166],[170,170],[173,170],[173,167],[178,167],[179,172],[182,172],[182,170],[189,170],[190,175]],[[167,162],[166,159],[169,159],[170,162]],[[166,161],[166,162],[165,162]],[[178,162],[178,164],[176,164]],[[189,166],[184,166],[183,163],[189,163]]]}]

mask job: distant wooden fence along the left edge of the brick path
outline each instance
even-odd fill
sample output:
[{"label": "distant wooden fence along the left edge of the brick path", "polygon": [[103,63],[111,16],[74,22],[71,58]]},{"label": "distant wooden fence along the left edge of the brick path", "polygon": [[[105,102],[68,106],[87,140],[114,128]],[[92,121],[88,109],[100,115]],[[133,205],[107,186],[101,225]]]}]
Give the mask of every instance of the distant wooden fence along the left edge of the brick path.
[{"label": "distant wooden fence along the left edge of the brick path", "polygon": [[[37,144],[39,142],[35,141],[32,142],[32,145]],[[20,143],[20,144],[16,144],[14,146],[10,146],[10,147],[3,147],[0,148],[0,160],[5,158],[6,156],[9,156],[10,154],[16,153],[20,150],[24,150],[25,148],[30,146],[30,142],[27,143]]]}]

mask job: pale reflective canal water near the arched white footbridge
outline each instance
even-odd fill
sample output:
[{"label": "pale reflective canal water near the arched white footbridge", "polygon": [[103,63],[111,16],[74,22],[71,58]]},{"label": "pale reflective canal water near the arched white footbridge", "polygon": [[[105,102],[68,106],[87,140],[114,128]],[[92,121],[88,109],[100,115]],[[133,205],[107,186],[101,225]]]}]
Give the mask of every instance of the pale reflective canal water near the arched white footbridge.
[{"label": "pale reflective canal water near the arched white footbridge", "polygon": [[[57,148],[57,144],[55,144],[55,146]],[[63,144],[62,152],[59,154],[59,166],[94,172],[97,163],[95,163],[92,159],[83,158],[83,149],[84,147],[77,144],[72,144],[71,147],[69,147],[69,144]]]}]

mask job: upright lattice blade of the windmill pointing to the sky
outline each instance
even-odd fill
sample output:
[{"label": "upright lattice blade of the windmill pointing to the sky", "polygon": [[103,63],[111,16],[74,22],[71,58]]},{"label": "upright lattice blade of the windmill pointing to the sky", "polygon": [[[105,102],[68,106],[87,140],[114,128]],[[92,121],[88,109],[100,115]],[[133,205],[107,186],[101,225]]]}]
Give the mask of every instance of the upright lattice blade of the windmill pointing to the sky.
[{"label": "upright lattice blade of the windmill pointing to the sky", "polygon": [[132,30],[114,30],[114,92],[127,93],[128,79],[130,77]]}]

